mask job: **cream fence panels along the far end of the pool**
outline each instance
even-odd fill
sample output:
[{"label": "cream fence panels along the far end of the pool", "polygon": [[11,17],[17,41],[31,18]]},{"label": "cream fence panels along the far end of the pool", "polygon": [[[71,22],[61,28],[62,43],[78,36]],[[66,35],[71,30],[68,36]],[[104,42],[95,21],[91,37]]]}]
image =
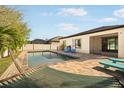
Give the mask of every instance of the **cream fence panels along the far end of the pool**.
[{"label": "cream fence panels along the far end of the pool", "polygon": [[26,44],[23,46],[22,50],[32,51],[32,50],[58,50],[58,44]]}]

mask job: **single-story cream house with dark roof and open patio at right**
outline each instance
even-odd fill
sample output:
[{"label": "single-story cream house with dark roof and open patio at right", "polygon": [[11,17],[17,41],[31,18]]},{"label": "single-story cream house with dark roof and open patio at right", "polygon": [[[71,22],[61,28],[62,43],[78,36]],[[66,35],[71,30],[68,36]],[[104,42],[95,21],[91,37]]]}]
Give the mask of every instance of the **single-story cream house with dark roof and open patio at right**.
[{"label": "single-story cream house with dark roof and open patio at right", "polygon": [[66,36],[60,45],[71,46],[77,52],[124,58],[124,25],[111,25]]}]

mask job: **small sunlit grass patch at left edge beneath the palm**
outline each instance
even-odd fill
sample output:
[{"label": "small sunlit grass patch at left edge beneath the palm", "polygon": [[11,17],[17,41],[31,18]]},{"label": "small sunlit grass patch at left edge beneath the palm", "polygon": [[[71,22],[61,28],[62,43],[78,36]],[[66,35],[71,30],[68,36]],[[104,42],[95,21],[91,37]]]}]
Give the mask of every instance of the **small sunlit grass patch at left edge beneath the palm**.
[{"label": "small sunlit grass patch at left edge beneath the palm", "polygon": [[0,58],[0,76],[11,65],[10,57]]}]

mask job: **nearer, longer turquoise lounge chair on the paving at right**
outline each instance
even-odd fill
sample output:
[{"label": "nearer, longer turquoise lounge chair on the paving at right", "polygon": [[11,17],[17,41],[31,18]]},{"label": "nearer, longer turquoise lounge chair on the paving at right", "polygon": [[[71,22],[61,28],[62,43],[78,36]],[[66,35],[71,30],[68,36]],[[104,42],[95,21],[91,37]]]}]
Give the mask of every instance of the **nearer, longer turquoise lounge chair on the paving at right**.
[{"label": "nearer, longer turquoise lounge chair on the paving at right", "polygon": [[104,68],[114,67],[124,71],[124,65],[113,63],[111,60],[101,60],[99,63],[104,65]]}]

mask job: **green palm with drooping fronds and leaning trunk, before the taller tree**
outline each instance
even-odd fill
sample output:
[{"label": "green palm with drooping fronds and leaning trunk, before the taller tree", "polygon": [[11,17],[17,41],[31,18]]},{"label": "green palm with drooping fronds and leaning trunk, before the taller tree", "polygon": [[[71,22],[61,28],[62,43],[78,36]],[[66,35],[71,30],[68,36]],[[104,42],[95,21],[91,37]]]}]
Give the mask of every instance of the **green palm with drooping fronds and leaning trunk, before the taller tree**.
[{"label": "green palm with drooping fronds and leaning trunk, before the taller tree", "polygon": [[17,31],[14,31],[14,29],[10,29],[8,27],[2,27],[0,28],[0,51],[1,54],[4,53],[6,49],[8,49],[10,56],[17,67],[18,71],[21,73],[21,69],[18,66],[13,51],[18,48],[18,45],[21,40],[21,34]]}]

